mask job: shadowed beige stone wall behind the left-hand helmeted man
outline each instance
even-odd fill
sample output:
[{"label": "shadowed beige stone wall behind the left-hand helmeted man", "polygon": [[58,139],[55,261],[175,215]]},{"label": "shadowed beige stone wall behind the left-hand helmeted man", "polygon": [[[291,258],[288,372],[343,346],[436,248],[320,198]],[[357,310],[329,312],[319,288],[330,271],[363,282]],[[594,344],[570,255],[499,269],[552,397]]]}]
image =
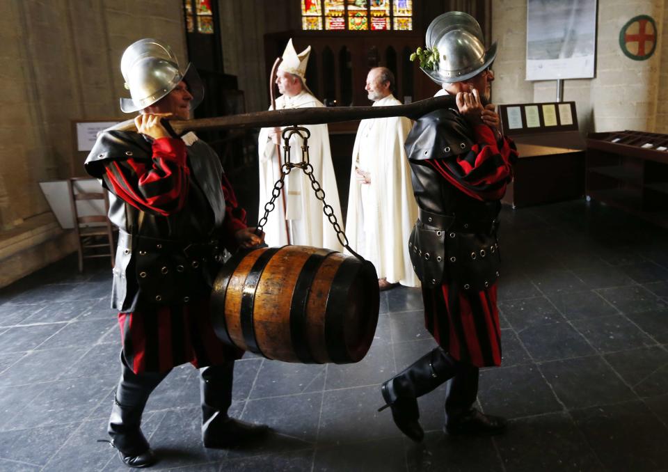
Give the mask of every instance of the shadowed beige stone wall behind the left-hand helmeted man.
[{"label": "shadowed beige stone wall behind the left-hand helmeted man", "polygon": [[[70,177],[71,120],[124,118],[118,97],[127,96],[119,70],[125,47],[152,36],[185,58],[182,15],[181,0],[0,2],[0,249],[6,235],[34,233],[49,213],[38,182]],[[42,253],[43,243],[25,243],[31,262],[24,272],[72,251],[63,244],[51,247],[49,260],[28,254]]]}]

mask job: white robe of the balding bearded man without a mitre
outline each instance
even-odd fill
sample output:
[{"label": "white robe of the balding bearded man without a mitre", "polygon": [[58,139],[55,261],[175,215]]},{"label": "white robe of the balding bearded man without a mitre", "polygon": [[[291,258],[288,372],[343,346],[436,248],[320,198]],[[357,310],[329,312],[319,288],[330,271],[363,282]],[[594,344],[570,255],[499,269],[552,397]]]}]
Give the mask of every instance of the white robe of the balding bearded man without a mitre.
[{"label": "white robe of the balding bearded man without a mitre", "polygon": [[[400,104],[390,94],[374,107]],[[379,278],[417,287],[420,281],[408,257],[408,237],[417,219],[404,150],[410,131],[411,120],[404,116],[360,122],[353,146],[346,234],[351,248],[373,262]],[[356,166],[371,173],[370,184],[358,182]]]}]

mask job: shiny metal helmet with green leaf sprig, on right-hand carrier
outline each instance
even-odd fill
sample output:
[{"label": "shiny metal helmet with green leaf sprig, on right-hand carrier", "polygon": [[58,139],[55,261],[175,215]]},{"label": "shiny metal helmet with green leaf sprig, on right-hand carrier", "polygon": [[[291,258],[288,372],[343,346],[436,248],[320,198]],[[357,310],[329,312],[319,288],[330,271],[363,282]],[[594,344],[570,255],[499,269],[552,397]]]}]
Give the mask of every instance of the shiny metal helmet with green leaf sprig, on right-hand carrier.
[{"label": "shiny metal helmet with green leaf sprig, on right-hand carrier", "polygon": [[438,62],[434,70],[420,69],[438,85],[475,77],[496,57],[496,42],[485,50],[482,29],[468,13],[452,11],[438,15],[429,24],[425,40],[429,49],[438,49]]}]

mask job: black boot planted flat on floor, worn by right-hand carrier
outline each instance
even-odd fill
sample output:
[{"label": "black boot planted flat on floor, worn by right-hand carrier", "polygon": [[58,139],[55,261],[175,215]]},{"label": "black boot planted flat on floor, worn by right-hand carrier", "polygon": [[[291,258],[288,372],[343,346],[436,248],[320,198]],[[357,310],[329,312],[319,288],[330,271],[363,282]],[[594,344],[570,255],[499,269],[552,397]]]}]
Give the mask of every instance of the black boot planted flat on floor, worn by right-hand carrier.
[{"label": "black boot planted flat on floor, worn by right-hand carrier", "polygon": [[478,395],[478,377],[479,369],[475,365],[459,363],[457,373],[447,388],[443,428],[447,434],[486,436],[506,430],[504,418],[482,414],[472,407]]}]

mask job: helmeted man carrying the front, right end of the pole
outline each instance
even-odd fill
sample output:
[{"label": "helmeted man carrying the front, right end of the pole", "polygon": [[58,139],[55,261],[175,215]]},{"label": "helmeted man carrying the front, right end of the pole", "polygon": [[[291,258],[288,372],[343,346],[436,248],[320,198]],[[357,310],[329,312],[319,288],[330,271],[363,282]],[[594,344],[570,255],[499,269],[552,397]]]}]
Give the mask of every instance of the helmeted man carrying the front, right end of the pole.
[{"label": "helmeted man carrying the front, right end of the pole", "polygon": [[501,363],[497,217],[517,157],[488,104],[496,43],[485,50],[477,21],[450,12],[431,22],[427,49],[417,56],[443,86],[437,95],[453,98],[417,120],[406,139],[419,207],[408,245],[438,347],[385,381],[381,393],[399,429],[422,441],[417,398],[450,379],[444,431],[498,434],[506,421],[473,408],[479,368]]}]

